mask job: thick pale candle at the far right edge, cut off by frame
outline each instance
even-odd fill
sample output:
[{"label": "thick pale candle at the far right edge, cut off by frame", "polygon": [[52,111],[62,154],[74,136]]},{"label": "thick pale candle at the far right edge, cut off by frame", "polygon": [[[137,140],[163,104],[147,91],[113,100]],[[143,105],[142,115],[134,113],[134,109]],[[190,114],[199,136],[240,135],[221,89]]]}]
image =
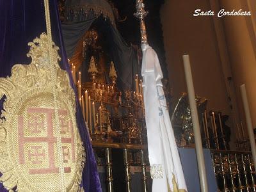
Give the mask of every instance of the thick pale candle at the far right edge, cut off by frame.
[{"label": "thick pale candle at the far right edge, cut off by frame", "polygon": [[253,127],[252,127],[252,119],[251,119],[245,84],[242,84],[240,86],[240,90],[241,90],[241,96],[242,96],[242,100],[243,100],[244,113],[245,113],[245,117],[246,117],[248,136],[250,139],[253,163],[256,164],[256,145],[255,145],[255,138],[254,138]]}]

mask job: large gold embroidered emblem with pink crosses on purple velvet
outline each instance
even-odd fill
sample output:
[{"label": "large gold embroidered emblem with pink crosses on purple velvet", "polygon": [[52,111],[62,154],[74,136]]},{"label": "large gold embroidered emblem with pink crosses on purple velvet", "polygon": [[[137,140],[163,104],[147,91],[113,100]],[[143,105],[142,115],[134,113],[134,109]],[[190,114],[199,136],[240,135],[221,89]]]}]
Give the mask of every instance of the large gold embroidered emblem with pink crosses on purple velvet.
[{"label": "large gold embroidered emblem with pink crosses on purple velvet", "polygon": [[[61,191],[63,183],[66,191],[82,191],[79,184],[85,153],[76,124],[74,90],[67,72],[58,65],[58,47],[52,42],[52,50],[48,49],[45,33],[28,45],[31,63],[14,65],[11,77],[0,78],[0,98],[6,95],[5,120],[0,122],[0,182],[6,189],[17,187],[17,191]],[[50,51],[56,81],[49,70]],[[54,108],[53,92],[58,109]]]}]

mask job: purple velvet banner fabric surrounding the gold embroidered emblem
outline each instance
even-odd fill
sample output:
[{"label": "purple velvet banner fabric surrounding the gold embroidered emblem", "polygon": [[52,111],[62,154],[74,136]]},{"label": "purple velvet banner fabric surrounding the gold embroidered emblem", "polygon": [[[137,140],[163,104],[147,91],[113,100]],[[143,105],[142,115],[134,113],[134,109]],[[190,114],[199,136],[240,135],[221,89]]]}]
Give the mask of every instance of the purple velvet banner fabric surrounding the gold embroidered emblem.
[{"label": "purple velvet banner fabric surrounding the gold embroidered emblem", "polygon": [[[71,86],[76,92],[63,45],[57,1],[51,0],[49,4],[52,38],[55,44],[60,47],[60,66],[67,70]],[[26,56],[29,51],[28,42],[32,42],[36,36],[40,36],[43,32],[46,32],[43,0],[0,0],[0,77],[10,76],[11,68],[17,63],[29,64],[31,62],[31,59]],[[85,191],[102,191],[92,144],[77,97],[76,106],[77,126],[86,149],[86,165],[83,170],[82,185]],[[3,109],[3,99],[0,98],[0,114],[1,109]],[[0,191],[2,190],[4,189],[0,183]]]}]

